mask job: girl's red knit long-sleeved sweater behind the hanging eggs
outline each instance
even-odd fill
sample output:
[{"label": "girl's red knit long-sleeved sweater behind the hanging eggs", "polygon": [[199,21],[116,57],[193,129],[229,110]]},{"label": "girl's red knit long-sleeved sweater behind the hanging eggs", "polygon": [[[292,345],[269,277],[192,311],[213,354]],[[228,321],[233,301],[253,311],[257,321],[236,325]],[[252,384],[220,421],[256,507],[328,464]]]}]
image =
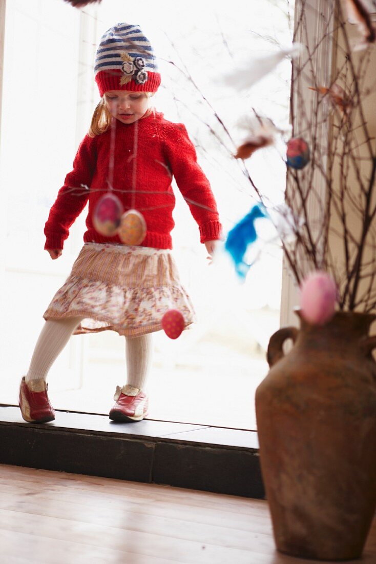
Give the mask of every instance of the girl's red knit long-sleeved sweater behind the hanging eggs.
[{"label": "girl's red knit long-sleeved sweater behind the hanging eggs", "polygon": [[[219,239],[221,224],[210,184],[197,164],[196,151],[183,124],[173,124],[162,113],[138,120],[135,205],[145,218],[147,234],[143,246],[171,249],[174,227],[172,210],[174,175],[200,229],[200,241]],[[132,174],[135,124],[116,122],[113,188],[127,211],[132,204]],[[78,148],[73,170],[65,178],[45,226],[45,249],[62,249],[69,227],[89,199],[84,241],[121,243],[119,237],[104,237],[95,231],[92,214],[108,191],[110,130],[91,138],[86,135]],[[82,188],[82,184],[90,188]],[[197,205],[196,205],[197,204]]]}]

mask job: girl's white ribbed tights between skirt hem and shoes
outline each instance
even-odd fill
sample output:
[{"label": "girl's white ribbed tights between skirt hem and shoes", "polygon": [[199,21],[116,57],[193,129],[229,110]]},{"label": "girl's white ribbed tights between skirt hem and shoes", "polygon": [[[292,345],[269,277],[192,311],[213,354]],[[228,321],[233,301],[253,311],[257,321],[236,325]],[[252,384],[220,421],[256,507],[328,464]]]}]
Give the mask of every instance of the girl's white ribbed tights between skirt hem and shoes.
[{"label": "girl's white ribbed tights between skirt hem and shoes", "polygon": [[[26,382],[47,380],[47,374],[57,356],[67,345],[82,317],[48,319],[33,352]],[[143,390],[152,362],[152,336],[126,337],[127,384]]]}]

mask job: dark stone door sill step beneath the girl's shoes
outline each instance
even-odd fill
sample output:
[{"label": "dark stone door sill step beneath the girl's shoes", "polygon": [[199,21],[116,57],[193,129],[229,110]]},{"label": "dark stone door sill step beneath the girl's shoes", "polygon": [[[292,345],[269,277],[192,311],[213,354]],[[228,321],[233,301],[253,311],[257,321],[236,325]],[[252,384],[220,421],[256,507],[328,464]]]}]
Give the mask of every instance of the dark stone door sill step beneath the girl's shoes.
[{"label": "dark stone door sill step beneath the girl's shoes", "polygon": [[264,498],[255,431],[57,411],[26,423],[0,407],[0,462]]}]

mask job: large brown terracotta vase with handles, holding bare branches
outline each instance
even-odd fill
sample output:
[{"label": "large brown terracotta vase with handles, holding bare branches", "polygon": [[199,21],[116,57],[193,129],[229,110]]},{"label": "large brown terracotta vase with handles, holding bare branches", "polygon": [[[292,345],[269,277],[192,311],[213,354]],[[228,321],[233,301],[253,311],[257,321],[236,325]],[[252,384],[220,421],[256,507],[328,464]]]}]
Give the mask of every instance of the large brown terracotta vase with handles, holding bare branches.
[{"label": "large brown terracotta vase with handles, holding bare branches", "polygon": [[[278,550],[359,558],[376,505],[375,315],[338,312],[322,327],[271,337],[256,390],[260,461]],[[294,346],[284,355],[282,345]]]}]

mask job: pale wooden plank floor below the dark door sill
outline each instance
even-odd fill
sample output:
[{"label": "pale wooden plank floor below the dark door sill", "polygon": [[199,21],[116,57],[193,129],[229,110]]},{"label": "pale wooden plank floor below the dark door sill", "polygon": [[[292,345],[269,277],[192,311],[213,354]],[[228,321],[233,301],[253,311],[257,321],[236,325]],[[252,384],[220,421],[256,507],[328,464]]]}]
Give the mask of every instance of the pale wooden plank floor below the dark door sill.
[{"label": "pale wooden plank floor below the dark door sill", "polygon": [[4,465],[0,562],[312,564],[276,552],[266,501]]}]

